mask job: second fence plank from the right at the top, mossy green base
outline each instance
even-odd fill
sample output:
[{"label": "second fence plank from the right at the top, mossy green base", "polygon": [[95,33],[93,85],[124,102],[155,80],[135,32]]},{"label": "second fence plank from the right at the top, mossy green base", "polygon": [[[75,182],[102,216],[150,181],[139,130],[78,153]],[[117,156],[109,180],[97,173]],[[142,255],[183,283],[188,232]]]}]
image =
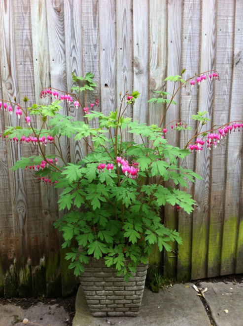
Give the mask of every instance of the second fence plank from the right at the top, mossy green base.
[{"label": "second fence plank from the right at the top, mossy green base", "polygon": [[[225,16],[227,12],[227,16]],[[218,127],[229,119],[232,78],[234,1],[217,1],[216,70],[220,81],[214,88],[213,125]],[[229,135],[227,136],[229,137]],[[222,139],[217,149],[211,151],[210,226],[208,239],[208,277],[219,275],[224,222],[226,145]]]}]

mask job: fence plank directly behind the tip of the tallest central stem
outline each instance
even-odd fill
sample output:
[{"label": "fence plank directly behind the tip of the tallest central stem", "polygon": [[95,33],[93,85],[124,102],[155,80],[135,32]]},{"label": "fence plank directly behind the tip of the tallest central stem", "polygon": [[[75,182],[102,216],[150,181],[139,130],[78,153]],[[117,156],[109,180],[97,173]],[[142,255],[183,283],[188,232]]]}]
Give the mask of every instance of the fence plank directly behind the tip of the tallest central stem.
[{"label": "fence plank directly behind the tip of the tallest central stem", "polygon": [[[133,91],[133,1],[116,1],[116,98],[120,108],[120,92],[124,96]],[[132,118],[132,105],[124,117]],[[122,137],[132,141],[132,134],[122,130]]]}]

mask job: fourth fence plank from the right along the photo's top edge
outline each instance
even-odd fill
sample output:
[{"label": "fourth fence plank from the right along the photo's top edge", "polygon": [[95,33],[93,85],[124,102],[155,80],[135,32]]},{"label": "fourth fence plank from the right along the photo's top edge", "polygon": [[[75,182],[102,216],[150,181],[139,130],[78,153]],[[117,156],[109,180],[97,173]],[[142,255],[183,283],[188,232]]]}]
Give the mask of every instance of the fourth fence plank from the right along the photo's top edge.
[{"label": "fourth fence plank from the right along the photo's top edge", "polygon": [[[198,22],[201,17],[201,1],[184,1],[183,17],[182,69],[186,69],[186,71],[182,78],[187,80],[194,76],[195,72],[199,71],[200,24]],[[191,51],[192,48],[195,49],[193,52]],[[201,86],[204,87],[204,83]],[[192,127],[192,131],[179,132],[180,148],[185,148],[186,143],[192,138],[196,129],[196,122],[190,118],[192,115],[197,114],[198,111],[198,88],[198,85],[192,87],[190,82],[183,84],[181,87],[180,119],[181,122],[188,123]],[[193,140],[193,144],[195,141],[196,139]],[[183,168],[194,170],[194,161],[195,153],[191,153],[180,162],[180,165]],[[186,190],[193,197],[193,182],[189,182],[188,186],[188,189],[180,187],[180,190]],[[192,222],[193,213],[189,215],[183,210],[179,212],[178,231],[183,239],[183,244],[178,246],[178,280],[188,280],[191,276]]]}]

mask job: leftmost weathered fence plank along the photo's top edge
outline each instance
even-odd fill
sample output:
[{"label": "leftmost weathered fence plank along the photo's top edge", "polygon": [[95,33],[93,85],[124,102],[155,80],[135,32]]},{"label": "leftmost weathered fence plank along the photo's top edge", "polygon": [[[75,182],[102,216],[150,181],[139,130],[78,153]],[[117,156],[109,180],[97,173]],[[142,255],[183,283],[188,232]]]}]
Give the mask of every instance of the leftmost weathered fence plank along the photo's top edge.
[{"label": "leftmost weathered fence plank along the photo's top edge", "polygon": [[[1,67],[2,67],[2,95],[6,100],[12,100],[16,96],[19,101],[19,90],[17,86],[17,60],[15,49],[15,35],[14,35],[14,8],[13,2],[7,1],[4,6],[1,6],[1,22],[4,22],[1,28]],[[6,125],[17,125],[16,116],[10,116],[5,113]],[[14,163],[23,156],[22,147],[10,142],[7,142],[7,159],[8,167],[12,167]],[[12,254],[11,260],[16,259],[17,273],[25,271],[28,257],[30,257],[30,250],[27,235],[27,195],[25,184],[25,172],[22,170],[9,171],[9,185],[10,185],[10,199],[12,204],[12,221],[9,223],[9,234],[7,236],[6,245],[11,243]],[[13,230],[11,229],[13,225]],[[8,227],[8,224],[7,224]],[[12,238],[14,236],[14,238]],[[9,257],[10,258],[10,257]],[[11,264],[13,266],[13,264]],[[11,267],[10,266],[10,267]],[[28,267],[27,267],[28,268]],[[8,277],[12,281],[11,275],[14,273],[7,273],[4,279],[4,294],[9,296],[6,284]],[[25,275],[25,274],[24,274]],[[24,284],[20,282],[20,284]],[[32,289],[30,289],[32,290]],[[17,288],[12,288],[13,295],[18,293]],[[10,295],[11,295],[10,294]]]}]

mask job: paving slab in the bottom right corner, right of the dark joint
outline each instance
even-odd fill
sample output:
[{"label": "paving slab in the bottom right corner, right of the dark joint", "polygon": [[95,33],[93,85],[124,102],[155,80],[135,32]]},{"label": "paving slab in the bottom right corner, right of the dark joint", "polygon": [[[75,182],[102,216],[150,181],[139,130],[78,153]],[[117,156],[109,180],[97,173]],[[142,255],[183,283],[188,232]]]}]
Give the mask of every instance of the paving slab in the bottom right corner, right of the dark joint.
[{"label": "paving slab in the bottom right corner, right of the dark joint", "polygon": [[217,326],[243,326],[243,283],[207,283],[204,293]]}]

